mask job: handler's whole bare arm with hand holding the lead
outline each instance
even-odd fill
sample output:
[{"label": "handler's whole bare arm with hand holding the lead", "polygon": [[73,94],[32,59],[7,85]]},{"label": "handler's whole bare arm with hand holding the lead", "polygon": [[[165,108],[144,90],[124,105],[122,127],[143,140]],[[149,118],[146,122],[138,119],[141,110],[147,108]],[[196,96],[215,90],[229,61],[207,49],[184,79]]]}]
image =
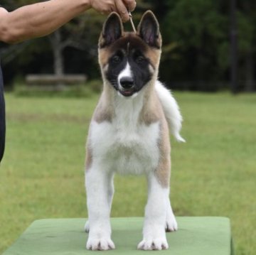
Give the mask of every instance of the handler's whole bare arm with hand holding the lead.
[{"label": "handler's whole bare arm with hand holding the lead", "polygon": [[46,36],[90,8],[104,14],[117,11],[122,21],[128,21],[127,9],[135,6],[134,0],[49,0],[11,12],[0,8],[0,41],[18,43]]}]

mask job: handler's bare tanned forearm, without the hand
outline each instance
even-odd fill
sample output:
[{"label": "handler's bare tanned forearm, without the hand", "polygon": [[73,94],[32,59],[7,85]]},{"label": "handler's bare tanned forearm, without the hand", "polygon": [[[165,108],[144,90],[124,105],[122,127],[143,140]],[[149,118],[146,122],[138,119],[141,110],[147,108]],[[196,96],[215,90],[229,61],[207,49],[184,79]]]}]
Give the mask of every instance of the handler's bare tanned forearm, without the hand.
[{"label": "handler's bare tanned forearm, without the hand", "polygon": [[46,36],[90,9],[90,0],[51,0],[1,13],[0,40],[6,43]]}]

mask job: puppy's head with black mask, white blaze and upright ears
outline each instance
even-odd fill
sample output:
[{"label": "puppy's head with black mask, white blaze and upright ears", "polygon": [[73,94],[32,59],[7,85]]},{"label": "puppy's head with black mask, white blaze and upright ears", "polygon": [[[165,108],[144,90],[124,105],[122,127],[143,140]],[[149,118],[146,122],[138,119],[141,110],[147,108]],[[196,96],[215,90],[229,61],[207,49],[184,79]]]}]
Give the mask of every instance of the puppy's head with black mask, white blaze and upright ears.
[{"label": "puppy's head with black mask, white blaze and upright ears", "polygon": [[105,83],[124,97],[139,92],[156,79],[161,55],[159,23],[146,11],[137,33],[124,32],[121,18],[111,13],[99,40],[99,63]]}]

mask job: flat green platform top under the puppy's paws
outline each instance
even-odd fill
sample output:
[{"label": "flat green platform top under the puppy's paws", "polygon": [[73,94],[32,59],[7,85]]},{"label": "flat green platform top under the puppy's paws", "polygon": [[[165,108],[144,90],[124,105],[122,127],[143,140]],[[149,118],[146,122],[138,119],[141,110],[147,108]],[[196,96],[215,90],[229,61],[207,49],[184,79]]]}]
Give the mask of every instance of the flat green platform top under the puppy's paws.
[{"label": "flat green platform top under the puppy's paws", "polygon": [[167,233],[169,249],[138,251],[143,218],[112,218],[112,251],[87,251],[85,219],[39,219],[3,255],[156,254],[230,255],[230,220],[225,217],[177,217],[178,232]]}]

